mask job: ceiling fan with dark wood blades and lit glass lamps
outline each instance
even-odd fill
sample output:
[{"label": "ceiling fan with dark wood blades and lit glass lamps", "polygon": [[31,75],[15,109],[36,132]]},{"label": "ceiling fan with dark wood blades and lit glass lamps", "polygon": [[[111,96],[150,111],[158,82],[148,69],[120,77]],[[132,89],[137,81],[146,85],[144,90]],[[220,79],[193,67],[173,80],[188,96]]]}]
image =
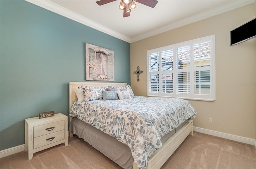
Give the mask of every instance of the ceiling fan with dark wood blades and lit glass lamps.
[{"label": "ceiling fan with dark wood blades and lit glass lamps", "polygon": [[[116,0],[99,0],[96,3],[98,5],[104,5],[113,1]],[[136,4],[134,1],[149,6],[151,8],[154,8],[158,2],[157,0],[121,0],[119,8],[121,10],[124,10],[124,17],[130,16],[130,12],[132,11],[132,9],[136,8]]]}]

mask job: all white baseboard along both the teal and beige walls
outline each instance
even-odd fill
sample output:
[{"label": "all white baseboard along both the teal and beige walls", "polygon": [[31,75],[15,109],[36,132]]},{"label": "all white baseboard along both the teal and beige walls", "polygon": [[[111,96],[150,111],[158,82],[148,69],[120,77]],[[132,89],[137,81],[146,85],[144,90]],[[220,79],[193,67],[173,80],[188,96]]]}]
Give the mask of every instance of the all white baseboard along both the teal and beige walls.
[{"label": "all white baseboard along both the teal and beige walls", "polygon": [[[193,127],[193,131],[196,131],[198,133],[208,134],[208,135],[214,135],[216,137],[221,137],[221,138],[224,138],[224,139],[230,139],[230,140],[238,141],[238,142],[241,142],[241,143],[254,145],[254,147],[256,149],[256,140],[254,140],[254,139],[241,137],[241,136],[238,136],[238,135],[232,135],[232,134],[228,134],[228,133],[222,133],[222,132],[219,132],[219,131],[214,131],[214,130],[209,130],[209,129],[203,129],[203,128],[200,128],[200,127]],[[68,135],[69,135],[69,132],[68,132]],[[0,151],[0,158],[6,157],[8,155],[15,154],[15,153],[19,153],[21,151],[25,151],[25,144],[18,145],[16,147],[11,147],[9,149],[5,149],[5,150]]]}]

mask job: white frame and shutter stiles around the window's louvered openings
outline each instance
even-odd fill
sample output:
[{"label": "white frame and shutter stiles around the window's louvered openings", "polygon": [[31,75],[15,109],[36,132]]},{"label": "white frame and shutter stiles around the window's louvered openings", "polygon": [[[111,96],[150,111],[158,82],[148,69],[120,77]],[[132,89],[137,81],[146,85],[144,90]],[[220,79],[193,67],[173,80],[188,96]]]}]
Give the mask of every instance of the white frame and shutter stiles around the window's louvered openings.
[{"label": "white frame and shutter stiles around the window's louvered openings", "polygon": [[[194,66],[194,56],[193,56],[193,49],[194,49],[194,45],[195,44],[200,44],[200,43],[205,43],[205,42],[210,42],[210,66],[203,66],[201,65],[200,67],[198,66]],[[190,59],[188,64],[190,66],[187,66],[188,68],[182,68],[182,69],[178,69],[176,68],[176,66],[178,64],[176,64],[176,52],[178,48],[182,48],[184,46],[189,46],[190,48]],[[161,52],[166,52],[168,50],[172,50],[173,51],[173,63],[172,63],[172,69],[170,70],[162,70],[162,67],[159,67],[159,64],[162,65],[162,56],[161,56]],[[152,60],[149,60],[152,54],[156,54],[157,55],[157,65],[158,68],[156,69],[156,71],[150,71],[150,69],[152,67],[150,67],[150,63]],[[160,63],[159,63],[160,61]],[[149,68],[150,67],[150,68]],[[194,93],[194,87],[197,88],[197,84],[196,84],[196,72],[198,71],[208,71],[210,70],[210,94],[196,94]],[[176,84],[177,84],[177,76],[176,74],[178,73],[184,73],[185,72],[189,72],[188,76],[189,76],[189,82],[188,84],[188,90],[189,93],[177,93],[176,89]],[[157,92],[150,92],[152,91],[151,84],[152,84],[152,80],[150,79],[150,77],[152,75],[156,75],[158,77],[164,75],[164,74],[172,74],[172,82],[173,82],[173,93],[164,93],[162,92],[162,78],[161,80],[158,80],[158,82],[156,82],[156,84],[158,84],[158,87],[156,87]],[[159,78],[158,78],[159,79]],[[164,83],[165,87],[166,83]],[[194,40],[189,40],[186,42],[181,42],[178,44],[173,44],[173,45],[169,45],[169,46],[164,46],[164,47],[160,47],[160,48],[156,48],[156,49],[152,49],[152,50],[148,50],[147,51],[147,95],[148,96],[157,96],[157,97],[175,97],[175,98],[183,98],[183,99],[194,99],[194,100],[205,100],[205,101],[214,101],[215,100],[215,35],[211,35],[211,36],[206,36],[203,38],[198,38],[198,39],[194,39]],[[195,88],[195,89],[196,89]],[[204,88],[202,88],[204,89]]]}]

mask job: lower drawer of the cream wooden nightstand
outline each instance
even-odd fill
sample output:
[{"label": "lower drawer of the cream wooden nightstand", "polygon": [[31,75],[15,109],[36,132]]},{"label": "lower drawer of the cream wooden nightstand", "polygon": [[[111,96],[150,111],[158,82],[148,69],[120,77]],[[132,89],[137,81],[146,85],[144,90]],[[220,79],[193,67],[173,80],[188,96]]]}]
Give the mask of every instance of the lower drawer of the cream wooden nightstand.
[{"label": "lower drawer of the cream wooden nightstand", "polygon": [[34,138],[34,149],[60,140],[64,140],[64,138],[64,130],[36,137]]}]

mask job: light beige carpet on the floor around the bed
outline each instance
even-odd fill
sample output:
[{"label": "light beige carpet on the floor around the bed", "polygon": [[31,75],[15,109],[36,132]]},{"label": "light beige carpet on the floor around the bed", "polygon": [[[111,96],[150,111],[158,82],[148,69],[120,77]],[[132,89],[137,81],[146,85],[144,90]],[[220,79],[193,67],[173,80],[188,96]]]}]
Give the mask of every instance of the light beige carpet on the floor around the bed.
[{"label": "light beige carpet on the floor around the bed", "polygon": [[[0,159],[0,169],[122,169],[78,137],[34,153],[23,151]],[[194,132],[161,169],[256,169],[253,145]]]}]

